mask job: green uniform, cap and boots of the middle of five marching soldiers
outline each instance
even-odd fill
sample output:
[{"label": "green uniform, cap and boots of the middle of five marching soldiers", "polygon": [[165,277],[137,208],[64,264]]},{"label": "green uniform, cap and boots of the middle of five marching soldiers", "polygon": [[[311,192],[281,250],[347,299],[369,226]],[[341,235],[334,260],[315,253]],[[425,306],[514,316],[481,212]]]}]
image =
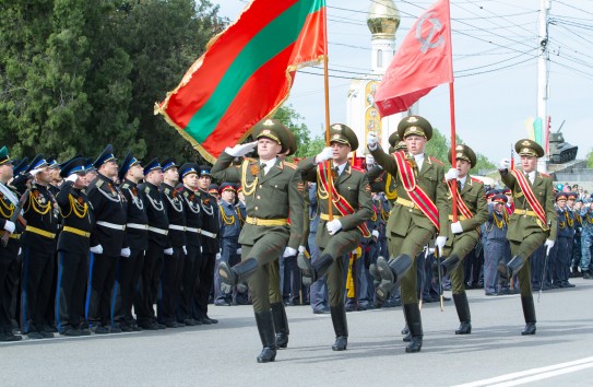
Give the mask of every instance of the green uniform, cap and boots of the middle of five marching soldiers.
[{"label": "green uniform, cap and boots of the middle of five marching soldiers", "polygon": [[[430,140],[432,127],[423,117],[410,116],[400,121],[398,133],[401,139],[410,136],[424,137]],[[377,289],[377,297],[382,301],[393,286],[393,282],[401,281],[401,297],[404,315],[412,333],[413,342],[406,348],[407,352],[417,352],[422,348],[422,320],[416,293],[416,261],[415,257],[437,232],[436,225],[411,200],[408,191],[404,188],[402,176],[394,155],[389,155],[379,146],[371,150],[375,161],[381,165],[395,179],[398,199],[391,210],[387,224],[388,246],[391,258],[389,263],[381,257],[377,267],[381,274],[381,283]],[[406,154],[407,163],[413,165],[416,186],[435,203],[438,213],[447,214],[447,189],[444,169],[441,162],[424,155],[422,168],[417,168],[420,156]],[[414,167],[415,166],[415,167]],[[441,233],[447,233],[449,220],[438,216]]]}]

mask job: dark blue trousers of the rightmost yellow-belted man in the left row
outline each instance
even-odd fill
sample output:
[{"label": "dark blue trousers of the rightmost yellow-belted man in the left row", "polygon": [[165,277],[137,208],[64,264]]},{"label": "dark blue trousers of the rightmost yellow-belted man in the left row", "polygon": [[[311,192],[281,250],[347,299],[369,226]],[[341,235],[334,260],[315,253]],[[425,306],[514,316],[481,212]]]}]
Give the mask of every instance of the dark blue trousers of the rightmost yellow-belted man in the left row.
[{"label": "dark blue trousers of the rightmost yellow-belted man in the left row", "polygon": [[58,251],[56,325],[59,332],[78,329],[83,315],[84,290],[88,275],[88,254]]}]

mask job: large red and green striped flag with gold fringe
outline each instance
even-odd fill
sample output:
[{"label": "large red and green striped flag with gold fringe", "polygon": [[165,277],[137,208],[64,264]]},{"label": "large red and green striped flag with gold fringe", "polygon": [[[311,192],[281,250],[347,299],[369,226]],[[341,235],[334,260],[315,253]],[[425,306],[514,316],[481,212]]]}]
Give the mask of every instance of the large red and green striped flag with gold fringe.
[{"label": "large red and green striped flag with gold fringe", "polygon": [[297,69],[323,59],[324,20],[325,0],[252,0],[156,113],[213,162],[288,97]]}]

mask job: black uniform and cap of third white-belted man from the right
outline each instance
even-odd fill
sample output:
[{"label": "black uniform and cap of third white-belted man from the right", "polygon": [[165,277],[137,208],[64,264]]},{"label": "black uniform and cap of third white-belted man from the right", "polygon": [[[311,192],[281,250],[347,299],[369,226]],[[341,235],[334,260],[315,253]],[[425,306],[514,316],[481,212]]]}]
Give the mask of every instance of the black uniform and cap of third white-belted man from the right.
[{"label": "black uniform and cap of third white-belted man from the right", "polygon": [[[168,159],[163,162],[163,172],[169,168],[177,168],[175,160]],[[186,214],[183,202],[175,187],[166,183],[159,187],[161,197],[167,215],[169,218],[169,248],[171,255],[165,255],[163,262],[163,274],[161,277],[161,300],[158,302],[158,322],[167,328],[179,328],[182,324],[177,321],[177,305],[181,290],[183,263],[186,257]]]}]

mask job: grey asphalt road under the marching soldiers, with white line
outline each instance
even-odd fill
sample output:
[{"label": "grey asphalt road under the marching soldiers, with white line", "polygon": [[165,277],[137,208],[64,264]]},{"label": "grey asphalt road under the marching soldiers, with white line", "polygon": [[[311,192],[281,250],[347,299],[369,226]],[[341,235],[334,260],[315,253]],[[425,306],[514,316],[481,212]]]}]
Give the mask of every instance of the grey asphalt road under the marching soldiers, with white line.
[{"label": "grey asphalt road under the marching soldiers, with white line", "polygon": [[354,312],[347,351],[333,352],[329,315],[292,306],[288,349],[258,364],[251,306],[212,306],[214,326],[1,343],[0,386],[591,386],[593,281],[571,282],[543,293],[533,337],[519,295],[470,290],[470,336],[454,335],[452,302],[427,304],[423,350],[406,354],[401,307]]}]

